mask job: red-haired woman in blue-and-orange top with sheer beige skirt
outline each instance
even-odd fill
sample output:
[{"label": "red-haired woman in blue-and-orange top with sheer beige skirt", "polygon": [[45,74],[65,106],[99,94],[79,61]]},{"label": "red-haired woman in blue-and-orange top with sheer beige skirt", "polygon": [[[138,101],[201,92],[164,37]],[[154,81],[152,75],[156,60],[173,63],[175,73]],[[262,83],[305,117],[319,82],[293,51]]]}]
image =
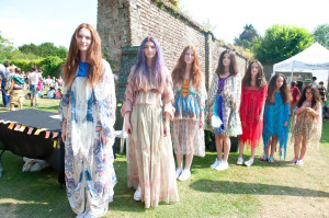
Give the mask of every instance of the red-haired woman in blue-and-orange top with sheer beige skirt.
[{"label": "red-haired woman in blue-and-orange top with sheer beige skirt", "polygon": [[185,181],[191,176],[193,156],[204,156],[204,140],[195,139],[203,136],[201,131],[204,123],[205,85],[200,71],[198,56],[193,46],[184,48],[172,71],[172,80],[175,113],[171,135],[178,163],[175,176]]}]

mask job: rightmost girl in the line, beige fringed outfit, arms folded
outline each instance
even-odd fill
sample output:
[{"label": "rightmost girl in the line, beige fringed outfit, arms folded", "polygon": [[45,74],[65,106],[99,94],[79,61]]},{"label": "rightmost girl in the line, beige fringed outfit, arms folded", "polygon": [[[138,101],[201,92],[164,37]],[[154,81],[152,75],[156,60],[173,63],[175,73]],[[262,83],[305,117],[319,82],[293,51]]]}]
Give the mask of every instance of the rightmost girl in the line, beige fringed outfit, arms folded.
[{"label": "rightmost girl in the line, beige fringed outfit, arms folded", "polygon": [[[322,130],[321,97],[314,84],[306,85],[297,102],[292,122],[292,139],[294,141],[295,158],[291,163],[304,165],[304,157],[309,141],[319,145]],[[302,144],[302,149],[300,149]]]}]

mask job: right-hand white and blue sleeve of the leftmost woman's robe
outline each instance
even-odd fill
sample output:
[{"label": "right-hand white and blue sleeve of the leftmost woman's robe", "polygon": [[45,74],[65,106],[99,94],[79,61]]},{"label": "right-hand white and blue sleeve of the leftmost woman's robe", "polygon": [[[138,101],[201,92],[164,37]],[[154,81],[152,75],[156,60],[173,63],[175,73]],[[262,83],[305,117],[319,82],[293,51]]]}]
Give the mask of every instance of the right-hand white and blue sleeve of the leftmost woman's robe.
[{"label": "right-hand white and blue sleeve of the leftmost woman's robe", "polygon": [[105,136],[114,140],[113,126],[116,110],[115,85],[111,67],[105,60],[103,60],[102,77],[94,87],[94,95]]}]

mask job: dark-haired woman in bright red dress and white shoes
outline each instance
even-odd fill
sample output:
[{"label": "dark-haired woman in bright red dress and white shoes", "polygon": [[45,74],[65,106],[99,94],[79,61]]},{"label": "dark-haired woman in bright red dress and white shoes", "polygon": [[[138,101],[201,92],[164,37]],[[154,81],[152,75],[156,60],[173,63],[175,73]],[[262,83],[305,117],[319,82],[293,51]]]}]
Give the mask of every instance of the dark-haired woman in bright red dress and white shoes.
[{"label": "dark-haired woman in bright red dress and white shoes", "polygon": [[256,147],[259,145],[263,130],[263,112],[266,94],[268,84],[263,66],[260,61],[253,60],[250,62],[242,79],[240,106],[242,135],[239,137],[238,165],[243,163],[242,154],[246,142],[251,147],[251,156],[248,161],[245,161],[245,164],[250,167],[253,163]]}]

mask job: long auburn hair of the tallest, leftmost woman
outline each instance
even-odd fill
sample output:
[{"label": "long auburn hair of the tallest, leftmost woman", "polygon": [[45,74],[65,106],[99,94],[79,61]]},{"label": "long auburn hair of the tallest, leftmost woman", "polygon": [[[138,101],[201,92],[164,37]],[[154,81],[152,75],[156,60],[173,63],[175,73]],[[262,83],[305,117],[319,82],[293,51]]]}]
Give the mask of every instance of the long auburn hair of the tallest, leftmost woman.
[{"label": "long auburn hair of the tallest, leftmost woman", "polygon": [[73,82],[77,69],[79,67],[80,50],[78,47],[78,35],[81,28],[87,28],[91,33],[91,44],[89,50],[87,51],[87,61],[89,64],[87,74],[90,84],[93,87],[101,78],[102,50],[100,35],[92,25],[82,23],[77,27],[72,35],[70,48],[63,66],[63,79],[67,87],[70,87]]}]

